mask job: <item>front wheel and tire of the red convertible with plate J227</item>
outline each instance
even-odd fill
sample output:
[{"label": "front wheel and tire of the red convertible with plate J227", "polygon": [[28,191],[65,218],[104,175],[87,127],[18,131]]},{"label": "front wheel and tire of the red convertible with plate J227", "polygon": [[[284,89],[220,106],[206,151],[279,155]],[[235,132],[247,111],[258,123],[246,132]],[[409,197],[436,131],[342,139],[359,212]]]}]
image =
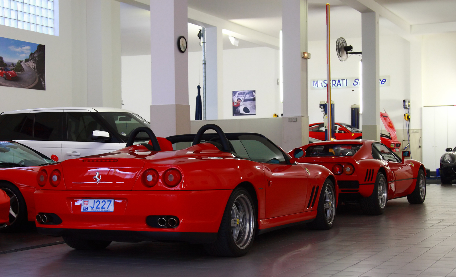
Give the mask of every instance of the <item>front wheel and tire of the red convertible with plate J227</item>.
[{"label": "front wheel and tire of the red convertible with plate J227", "polygon": [[326,179],[321,187],[316,211],[316,218],[307,223],[307,227],[313,230],[331,229],[336,217],[336,190],[330,179]]}]

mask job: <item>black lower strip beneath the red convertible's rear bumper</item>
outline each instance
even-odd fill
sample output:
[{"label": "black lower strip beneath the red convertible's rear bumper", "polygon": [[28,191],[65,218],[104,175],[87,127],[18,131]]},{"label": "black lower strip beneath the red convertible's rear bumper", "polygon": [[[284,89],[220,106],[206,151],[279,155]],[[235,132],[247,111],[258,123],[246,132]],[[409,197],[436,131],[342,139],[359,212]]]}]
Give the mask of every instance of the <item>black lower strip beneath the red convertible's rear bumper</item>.
[{"label": "black lower strip beneath the red convertible's rear bumper", "polygon": [[88,230],[65,228],[36,228],[42,235],[78,236],[86,240],[110,240],[123,242],[151,241],[188,241],[190,243],[212,243],[217,240],[217,233],[192,232],[150,232],[127,230]]}]

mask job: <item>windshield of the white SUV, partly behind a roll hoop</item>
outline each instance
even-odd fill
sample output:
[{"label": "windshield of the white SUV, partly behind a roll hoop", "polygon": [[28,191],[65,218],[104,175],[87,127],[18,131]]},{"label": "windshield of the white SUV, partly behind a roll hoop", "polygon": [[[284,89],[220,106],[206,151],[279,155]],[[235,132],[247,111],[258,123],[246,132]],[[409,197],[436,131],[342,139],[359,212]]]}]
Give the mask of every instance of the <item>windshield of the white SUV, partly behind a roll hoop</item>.
[{"label": "windshield of the white SUV, partly behind a roll hoop", "polygon": [[[130,137],[131,131],[138,127],[150,128],[149,122],[132,113],[124,112],[102,112],[99,113],[111,127],[117,131],[119,136],[126,142]],[[145,132],[140,132],[135,141],[149,141],[149,136]]]}]

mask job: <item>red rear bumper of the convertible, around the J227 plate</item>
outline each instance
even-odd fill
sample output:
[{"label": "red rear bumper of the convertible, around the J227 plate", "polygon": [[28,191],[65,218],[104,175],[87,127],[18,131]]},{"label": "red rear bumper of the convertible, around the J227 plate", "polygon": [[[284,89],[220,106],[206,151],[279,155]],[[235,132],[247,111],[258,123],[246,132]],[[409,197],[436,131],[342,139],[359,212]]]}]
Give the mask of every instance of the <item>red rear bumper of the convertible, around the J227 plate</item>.
[{"label": "red rear bumper of the convertible, around the J227 plate", "polygon": [[[36,227],[45,235],[87,235],[105,240],[109,236],[113,241],[211,242],[231,192],[36,190],[36,213],[57,214],[62,220],[55,225],[36,222]],[[114,211],[82,212],[82,199],[114,199]],[[174,228],[152,227],[146,223],[151,215],[175,216],[179,224]]]}]

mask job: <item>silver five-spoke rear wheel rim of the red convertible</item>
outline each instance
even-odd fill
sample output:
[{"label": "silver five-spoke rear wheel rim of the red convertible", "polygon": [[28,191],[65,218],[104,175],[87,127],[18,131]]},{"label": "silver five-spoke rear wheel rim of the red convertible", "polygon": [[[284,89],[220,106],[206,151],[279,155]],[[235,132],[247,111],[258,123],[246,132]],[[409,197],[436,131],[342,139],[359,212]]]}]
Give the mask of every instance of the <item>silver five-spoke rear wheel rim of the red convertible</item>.
[{"label": "silver five-spoke rear wheel rim of the red convertible", "polygon": [[254,235],[255,216],[249,198],[240,194],[231,208],[231,230],[233,240],[240,249],[249,246]]}]

